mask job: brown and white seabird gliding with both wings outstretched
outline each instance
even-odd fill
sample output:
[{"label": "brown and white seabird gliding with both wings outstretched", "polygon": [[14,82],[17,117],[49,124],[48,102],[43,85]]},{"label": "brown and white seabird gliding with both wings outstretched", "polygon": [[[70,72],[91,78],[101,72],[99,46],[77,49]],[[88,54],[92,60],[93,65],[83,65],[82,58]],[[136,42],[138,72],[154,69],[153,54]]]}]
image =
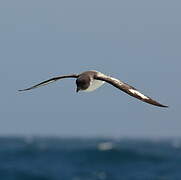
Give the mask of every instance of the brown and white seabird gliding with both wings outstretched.
[{"label": "brown and white seabird gliding with both wings outstretched", "polygon": [[139,92],[134,87],[116,79],[110,76],[107,76],[101,72],[98,71],[86,71],[81,74],[71,74],[71,75],[64,75],[64,76],[57,76],[53,77],[51,79],[48,79],[46,81],[43,81],[39,84],[36,84],[30,88],[22,89],[19,91],[27,91],[31,89],[38,88],[40,86],[47,85],[49,83],[55,82],[57,80],[63,79],[63,78],[76,78],[76,85],[77,89],[76,91],[94,91],[100,86],[102,86],[105,82],[113,85],[114,87],[120,89],[121,91],[129,94],[130,96],[133,96],[141,101],[144,101],[146,103],[159,106],[159,107],[168,107],[166,105],[160,104],[159,102],[153,100],[152,98],[145,96],[141,92]]}]

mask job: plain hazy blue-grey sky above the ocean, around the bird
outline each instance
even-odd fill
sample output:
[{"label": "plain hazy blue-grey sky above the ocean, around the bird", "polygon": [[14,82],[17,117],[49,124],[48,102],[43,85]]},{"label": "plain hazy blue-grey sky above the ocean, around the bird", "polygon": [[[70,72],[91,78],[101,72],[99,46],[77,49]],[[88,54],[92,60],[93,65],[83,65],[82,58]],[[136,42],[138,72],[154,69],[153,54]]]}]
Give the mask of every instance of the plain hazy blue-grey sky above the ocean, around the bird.
[{"label": "plain hazy blue-grey sky above the ocean, around the bird", "polygon": [[[180,137],[180,17],[180,1],[1,1],[0,135]],[[17,92],[92,69],[170,108],[71,79]]]}]

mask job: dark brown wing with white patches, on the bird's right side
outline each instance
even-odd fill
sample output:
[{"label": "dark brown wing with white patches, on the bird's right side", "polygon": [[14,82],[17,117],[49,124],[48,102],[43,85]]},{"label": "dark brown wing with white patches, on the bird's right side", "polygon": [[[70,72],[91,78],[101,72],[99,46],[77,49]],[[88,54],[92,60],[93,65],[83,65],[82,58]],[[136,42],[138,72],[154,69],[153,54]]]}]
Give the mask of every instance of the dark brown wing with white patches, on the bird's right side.
[{"label": "dark brown wing with white patches, on the bird's right side", "polygon": [[94,77],[97,80],[102,80],[105,81],[111,85],[113,85],[114,87],[124,91],[125,93],[129,94],[130,96],[133,96],[141,101],[144,101],[146,103],[155,105],[155,106],[160,106],[160,107],[168,107],[165,106],[163,104],[160,104],[159,102],[153,100],[152,98],[145,96],[144,94],[142,94],[141,92],[139,92],[137,89],[135,89],[134,87],[116,79],[110,76],[106,76],[102,73],[97,73]]}]

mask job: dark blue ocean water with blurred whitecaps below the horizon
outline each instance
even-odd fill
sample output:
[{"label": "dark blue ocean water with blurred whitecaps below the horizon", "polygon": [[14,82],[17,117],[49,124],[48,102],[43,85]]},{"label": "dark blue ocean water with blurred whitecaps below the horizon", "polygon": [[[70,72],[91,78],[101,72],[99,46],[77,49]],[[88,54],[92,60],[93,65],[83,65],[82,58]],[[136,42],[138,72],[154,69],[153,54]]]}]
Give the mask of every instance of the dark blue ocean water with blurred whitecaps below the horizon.
[{"label": "dark blue ocean water with blurred whitecaps below the horizon", "polygon": [[0,180],[181,180],[181,140],[1,137]]}]

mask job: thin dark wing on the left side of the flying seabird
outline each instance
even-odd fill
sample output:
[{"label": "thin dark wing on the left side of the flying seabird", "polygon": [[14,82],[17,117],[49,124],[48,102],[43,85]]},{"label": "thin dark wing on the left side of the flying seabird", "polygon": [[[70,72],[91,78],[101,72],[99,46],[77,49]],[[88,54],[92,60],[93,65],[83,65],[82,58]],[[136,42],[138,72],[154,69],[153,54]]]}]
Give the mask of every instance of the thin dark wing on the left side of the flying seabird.
[{"label": "thin dark wing on the left side of the flying seabird", "polygon": [[35,89],[35,88],[38,88],[38,87],[41,87],[41,86],[45,86],[45,85],[47,85],[49,83],[53,83],[53,82],[55,82],[57,80],[60,80],[60,79],[64,79],[64,78],[77,78],[78,76],[79,75],[77,75],[77,74],[71,74],[71,75],[64,75],[64,76],[53,77],[53,78],[48,79],[46,81],[43,81],[43,82],[41,82],[39,84],[36,84],[36,85],[34,85],[32,87],[29,87],[29,88],[26,88],[26,89],[21,89],[19,91],[28,91],[28,90]]}]

